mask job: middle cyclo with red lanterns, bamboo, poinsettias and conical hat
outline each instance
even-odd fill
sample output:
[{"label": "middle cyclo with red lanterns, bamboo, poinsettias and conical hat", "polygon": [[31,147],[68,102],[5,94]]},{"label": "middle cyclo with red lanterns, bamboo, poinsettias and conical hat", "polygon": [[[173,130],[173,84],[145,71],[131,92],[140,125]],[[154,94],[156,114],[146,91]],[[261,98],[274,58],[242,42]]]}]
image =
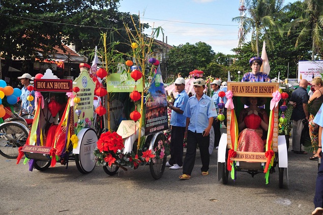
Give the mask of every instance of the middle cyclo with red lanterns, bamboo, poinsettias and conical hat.
[{"label": "middle cyclo with red lanterns, bamboo, poinsettias and conical hat", "polygon": [[126,61],[128,72],[107,76],[108,97],[103,105],[108,110],[104,123],[109,123],[108,131],[102,133],[94,153],[108,175],[119,168],[127,171],[126,167],[149,165],[153,178],[159,179],[165,170],[169,155],[163,132],[168,129],[166,91],[158,60],[151,58],[150,62],[150,78],[130,60]]}]

